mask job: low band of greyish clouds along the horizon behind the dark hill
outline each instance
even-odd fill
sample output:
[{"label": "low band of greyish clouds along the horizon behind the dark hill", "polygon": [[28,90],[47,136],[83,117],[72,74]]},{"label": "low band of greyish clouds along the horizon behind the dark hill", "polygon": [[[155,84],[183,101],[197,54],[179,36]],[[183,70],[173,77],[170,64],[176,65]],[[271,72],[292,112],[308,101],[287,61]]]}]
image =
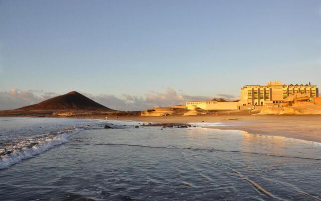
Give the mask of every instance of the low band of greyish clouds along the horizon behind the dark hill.
[{"label": "low band of greyish clouds along the horizon behind the dark hill", "polygon": [[[210,100],[214,96],[189,95],[184,92],[178,92],[174,88],[168,87],[163,92],[148,91],[142,96],[122,94],[117,97],[112,94],[92,95],[81,92],[83,95],[95,100],[108,108],[122,111],[140,111],[152,107],[166,107],[171,105],[185,105],[192,100]],[[42,90],[20,90],[13,88],[9,91],[0,92],[0,110],[16,109],[23,106],[40,103],[45,99],[60,94],[54,92],[45,92]],[[227,100],[235,100],[238,97],[229,94],[217,94],[218,97],[224,97]]]}]

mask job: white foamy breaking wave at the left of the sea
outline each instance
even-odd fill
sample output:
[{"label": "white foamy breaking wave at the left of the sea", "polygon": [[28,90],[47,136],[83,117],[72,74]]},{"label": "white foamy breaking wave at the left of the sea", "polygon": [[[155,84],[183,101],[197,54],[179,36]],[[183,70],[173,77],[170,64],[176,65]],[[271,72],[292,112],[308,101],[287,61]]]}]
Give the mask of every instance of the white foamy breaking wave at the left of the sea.
[{"label": "white foamy breaking wave at the left of the sea", "polygon": [[66,133],[56,135],[53,138],[47,138],[40,141],[39,144],[31,148],[22,148],[13,153],[0,157],[0,169],[8,168],[14,164],[20,163],[21,161],[32,158],[38,154],[44,153],[45,151],[68,142],[68,138],[76,133],[79,133],[83,129],[75,129],[73,131],[67,131]]}]

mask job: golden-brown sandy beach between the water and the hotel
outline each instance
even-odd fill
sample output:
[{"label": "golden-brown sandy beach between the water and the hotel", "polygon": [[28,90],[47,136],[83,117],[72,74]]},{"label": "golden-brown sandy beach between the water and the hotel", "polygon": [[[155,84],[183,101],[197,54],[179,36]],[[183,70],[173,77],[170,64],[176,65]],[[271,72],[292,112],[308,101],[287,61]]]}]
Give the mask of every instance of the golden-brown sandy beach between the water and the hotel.
[{"label": "golden-brown sandy beach between the water and the hotel", "polygon": [[[94,117],[106,119],[106,117]],[[116,119],[116,117],[108,117]],[[307,141],[321,142],[321,115],[278,116],[278,115],[221,115],[197,117],[128,117],[119,116],[118,120],[133,120],[153,123],[223,123],[226,126],[208,128],[222,130],[241,130],[251,134],[283,136]]]}]

